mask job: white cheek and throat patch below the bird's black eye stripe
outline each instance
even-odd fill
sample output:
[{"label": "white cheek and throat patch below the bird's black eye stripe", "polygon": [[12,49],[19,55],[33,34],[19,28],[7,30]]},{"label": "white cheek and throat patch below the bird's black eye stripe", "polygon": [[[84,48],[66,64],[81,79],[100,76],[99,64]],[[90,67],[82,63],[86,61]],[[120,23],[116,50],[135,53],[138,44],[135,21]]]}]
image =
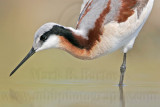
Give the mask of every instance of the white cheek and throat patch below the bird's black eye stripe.
[{"label": "white cheek and throat patch below the bird's black eye stripe", "polygon": [[36,52],[49,49],[49,48],[58,48],[59,47],[59,37],[57,35],[51,35],[43,44],[42,46],[37,49]]}]

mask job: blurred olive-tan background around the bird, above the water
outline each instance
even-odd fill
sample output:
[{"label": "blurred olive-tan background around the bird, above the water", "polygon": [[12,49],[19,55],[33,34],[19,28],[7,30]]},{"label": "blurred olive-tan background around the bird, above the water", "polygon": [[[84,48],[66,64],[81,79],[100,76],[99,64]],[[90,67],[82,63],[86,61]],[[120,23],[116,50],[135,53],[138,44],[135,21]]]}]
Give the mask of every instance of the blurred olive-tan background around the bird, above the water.
[{"label": "blurred olive-tan background around the bird, above the water", "polygon": [[[10,107],[9,104],[13,104],[13,99],[16,99],[15,95],[17,95],[14,89],[26,91],[28,87],[32,87],[26,92],[30,93],[46,85],[47,87],[58,87],[59,85],[63,87],[68,84],[76,84],[79,87],[82,84],[95,85],[97,83],[97,85],[106,86],[118,84],[119,68],[123,57],[121,51],[95,60],[83,61],[62,50],[45,50],[36,53],[13,77],[9,77],[10,72],[30,50],[35,31],[47,22],[75,27],[81,3],[82,0],[0,0],[0,101],[3,102],[1,103],[3,107]],[[158,86],[154,88],[154,91],[152,90],[156,94],[160,94],[157,91],[160,89],[159,5],[160,1],[155,0],[149,20],[140,32],[134,48],[128,53],[125,75],[127,85]],[[61,90],[61,87],[57,89]],[[79,88],[75,90],[77,89]],[[9,95],[7,101],[12,103],[6,105],[2,100],[3,94],[4,96]],[[14,104],[17,106],[20,103],[14,102]],[[26,107],[28,107],[27,104],[29,103],[26,103]],[[25,104],[21,103],[19,106],[22,107],[22,105]]]}]

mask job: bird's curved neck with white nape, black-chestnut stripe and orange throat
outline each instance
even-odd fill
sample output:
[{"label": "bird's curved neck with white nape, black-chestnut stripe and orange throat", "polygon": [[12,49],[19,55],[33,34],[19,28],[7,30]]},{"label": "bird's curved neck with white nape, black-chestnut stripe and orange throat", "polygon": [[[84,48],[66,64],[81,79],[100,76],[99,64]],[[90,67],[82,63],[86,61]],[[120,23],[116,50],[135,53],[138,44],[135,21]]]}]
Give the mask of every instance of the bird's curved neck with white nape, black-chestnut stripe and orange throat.
[{"label": "bird's curved neck with white nape, black-chestnut stripe and orange throat", "polygon": [[94,56],[94,47],[100,42],[100,35],[103,33],[103,29],[97,26],[87,32],[61,26],[59,31],[60,48],[81,59],[90,59]]}]

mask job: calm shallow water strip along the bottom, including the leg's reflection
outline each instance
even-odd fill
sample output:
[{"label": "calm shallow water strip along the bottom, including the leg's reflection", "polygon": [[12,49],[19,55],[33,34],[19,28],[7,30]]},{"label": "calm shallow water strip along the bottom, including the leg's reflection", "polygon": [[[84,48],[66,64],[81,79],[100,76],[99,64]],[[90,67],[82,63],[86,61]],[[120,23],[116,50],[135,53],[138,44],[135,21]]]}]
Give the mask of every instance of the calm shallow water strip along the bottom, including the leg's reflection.
[{"label": "calm shallow water strip along the bottom, including the leg's reflection", "polygon": [[[66,84],[66,83],[65,83]],[[159,107],[159,87],[107,84],[15,84],[0,89],[0,107]],[[124,95],[125,93],[125,95]]]}]

